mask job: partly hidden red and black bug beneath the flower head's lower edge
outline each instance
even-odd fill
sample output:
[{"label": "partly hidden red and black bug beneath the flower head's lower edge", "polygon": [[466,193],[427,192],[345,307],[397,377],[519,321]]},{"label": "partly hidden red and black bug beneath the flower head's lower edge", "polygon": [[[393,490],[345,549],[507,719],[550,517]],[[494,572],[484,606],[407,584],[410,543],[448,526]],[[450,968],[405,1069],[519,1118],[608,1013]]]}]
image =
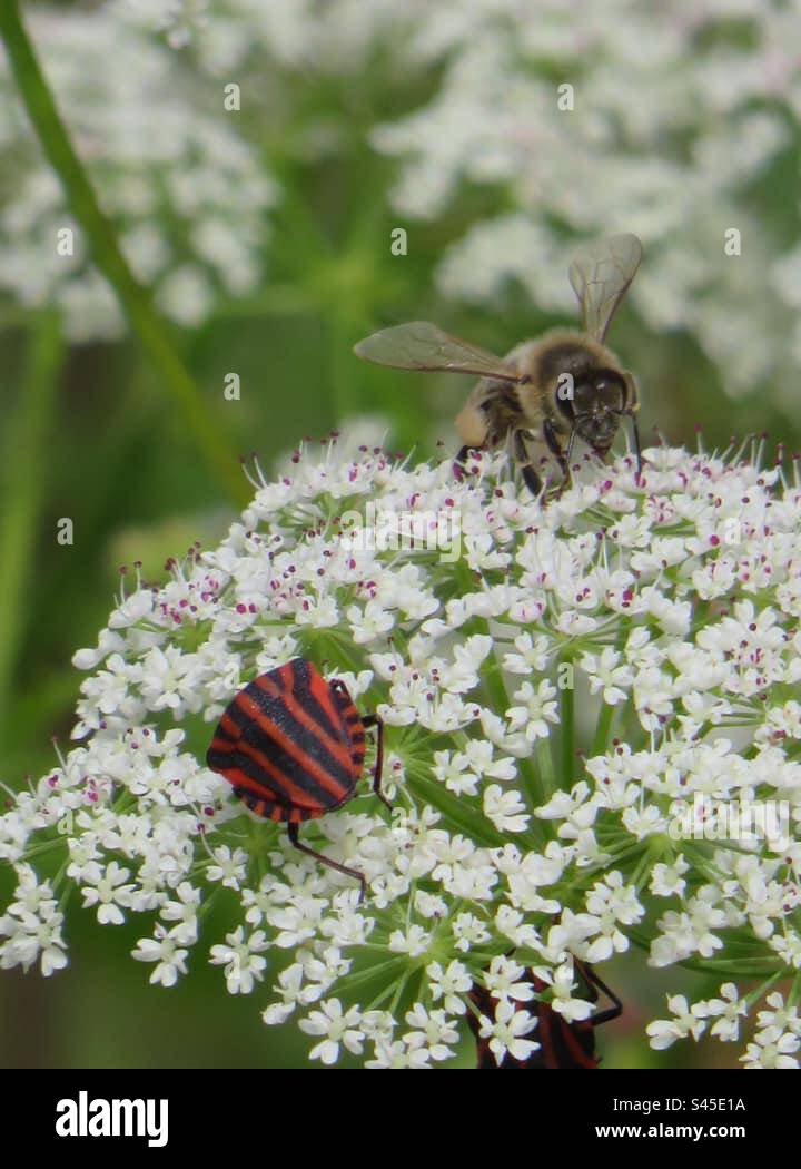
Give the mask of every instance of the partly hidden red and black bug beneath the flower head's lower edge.
[{"label": "partly hidden red and black bug beneath the flower head's lower edge", "polygon": [[[558,1070],[598,1067],[598,1057],[595,1056],[595,1028],[600,1026],[603,1023],[610,1023],[612,1019],[617,1019],[622,1012],[624,1007],[618,996],[611,991],[604,982],[601,982],[587,962],[579,962],[578,959],[574,959],[573,967],[584,982],[590,1002],[598,1002],[598,991],[600,990],[601,994],[606,995],[610,999],[612,1007],[603,1011],[595,1011],[595,1014],[591,1015],[590,1018],[577,1019],[571,1023],[563,1018],[562,1015],[555,1011],[553,1008],[544,1001],[535,998],[530,1002],[520,1002],[515,999],[516,1007],[521,1010],[528,1010],[531,1015],[536,1016],[537,1025],[531,1031],[529,1038],[535,1039],[539,1044],[539,1047],[536,1051],[532,1051],[528,1059],[514,1059],[509,1052],[506,1052],[500,1064],[496,1061],[495,1056],[489,1049],[489,1039],[481,1037],[481,1024],[479,1022],[479,1017],[472,1011],[468,1011],[467,1022],[471,1031],[475,1036],[478,1050],[476,1067],[500,1067],[503,1071],[510,1068],[524,1071],[527,1068]],[[537,978],[532,970],[528,971],[528,981],[536,994],[542,994],[543,990],[548,989],[548,983]],[[478,1007],[481,1015],[485,1015],[490,1019],[495,1018],[497,999],[493,998],[488,990],[483,987],[474,984],[469,992],[469,997],[475,1007]]]}]

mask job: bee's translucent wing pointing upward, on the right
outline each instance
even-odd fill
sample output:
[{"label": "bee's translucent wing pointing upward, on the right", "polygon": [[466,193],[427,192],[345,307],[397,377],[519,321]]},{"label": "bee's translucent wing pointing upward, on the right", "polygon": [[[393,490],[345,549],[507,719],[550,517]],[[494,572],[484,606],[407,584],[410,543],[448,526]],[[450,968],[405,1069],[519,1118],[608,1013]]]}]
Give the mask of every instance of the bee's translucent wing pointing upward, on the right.
[{"label": "bee's translucent wing pointing upward, on the right", "polygon": [[584,313],[584,327],[603,341],[614,311],[634,279],[642,260],[635,235],[613,235],[588,244],[570,265],[570,283]]}]

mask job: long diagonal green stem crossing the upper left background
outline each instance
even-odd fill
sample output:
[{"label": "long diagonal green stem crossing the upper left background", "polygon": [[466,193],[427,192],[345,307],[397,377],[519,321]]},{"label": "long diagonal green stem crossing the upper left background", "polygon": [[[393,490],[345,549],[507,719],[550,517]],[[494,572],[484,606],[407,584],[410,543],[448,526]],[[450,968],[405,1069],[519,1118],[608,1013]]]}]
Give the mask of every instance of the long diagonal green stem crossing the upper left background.
[{"label": "long diagonal green stem crossing the upper left background", "polygon": [[142,350],[180,409],[186,429],[209,470],[231,499],[245,503],[249,493],[237,462],[222,448],[220,428],[209,417],[200,390],[174,347],[166,321],[153,306],[148,291],[131,271],[114,228],[100,209],[22,23],[19,0],[2,0],[0,4],[0,36],[28,117],[48,161],[58,175],[72,214],[86,235],[95,263],[117,293]]}]

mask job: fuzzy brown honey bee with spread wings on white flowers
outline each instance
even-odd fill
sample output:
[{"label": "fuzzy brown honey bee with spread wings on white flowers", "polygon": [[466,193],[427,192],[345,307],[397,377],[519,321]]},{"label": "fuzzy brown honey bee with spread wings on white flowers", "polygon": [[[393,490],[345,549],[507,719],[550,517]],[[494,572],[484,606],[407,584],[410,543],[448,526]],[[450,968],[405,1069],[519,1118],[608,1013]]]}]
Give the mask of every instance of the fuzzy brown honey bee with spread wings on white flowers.
[{"label": "fuzzy brown honey bee with spread wings on white flowers", "polygon": [[584,317],[584,331],[552,328],[523,341],[506,358],[461,341],[427,320],[415,320],[372,333],[355,346],[365,361],[399,369],[478,374],[481,381],[457,416],[462,448],[457,469],[471,450],[506,444],[529,490],[538,494],[542,480],[532,466],[532,447],[542,444],[570,476],[576,438],[604,458],[622,417],[631,417],[638,482],[642,470],[635,411],[639,394],[634,375],[621,368],[604,345],[607,328],[642,258],[635,235],[613,235],[578,253],[570,283]]}]

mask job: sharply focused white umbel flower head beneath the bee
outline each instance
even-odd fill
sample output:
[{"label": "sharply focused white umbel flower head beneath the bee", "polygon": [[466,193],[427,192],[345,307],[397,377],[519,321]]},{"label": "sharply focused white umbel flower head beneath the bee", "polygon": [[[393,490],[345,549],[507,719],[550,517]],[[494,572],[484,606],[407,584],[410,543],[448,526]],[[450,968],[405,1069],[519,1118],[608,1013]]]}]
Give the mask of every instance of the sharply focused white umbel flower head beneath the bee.
[{"label": "sharply focused white umbel flower head beneath the bee", "polygon": [[[502,456],[454,479],[334,440],[257,469],[222,545],[138,581],[76,655],[76,743],[0,817],[0,966],[63,967],[77,888],[100,925],[141,921],[151,982],[211,962],[311,1058],[429,1067],[475,987],[495,1058],[525,1059],[530,973],[573,1023],[577,961],[634,945],[720,977],[670,996],[654,1047],[796,1066],[801,489],[758,456],[656,447],[639,483],[631,455],[586,463],[549,502]],[[204,763],[232,697],[295,657],[385,726],[392,811],[364,782],[302,825],[363,904]]]}]

